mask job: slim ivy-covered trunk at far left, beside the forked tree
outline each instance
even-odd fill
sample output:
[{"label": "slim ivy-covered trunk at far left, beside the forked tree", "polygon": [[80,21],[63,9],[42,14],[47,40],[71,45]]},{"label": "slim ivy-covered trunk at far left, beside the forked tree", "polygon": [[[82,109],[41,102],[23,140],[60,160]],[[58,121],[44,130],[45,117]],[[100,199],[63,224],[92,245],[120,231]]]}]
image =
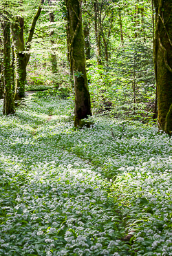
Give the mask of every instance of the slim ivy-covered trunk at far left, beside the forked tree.
[{"label": "slim ivy-covered trunk at far left, beside the forked tree", "polygon": [[3,83],[4,83],[3,114],[4,115],[14,114],[15,112],[10,60],[11,60],[10,21],[6,19],[3,22]]}]

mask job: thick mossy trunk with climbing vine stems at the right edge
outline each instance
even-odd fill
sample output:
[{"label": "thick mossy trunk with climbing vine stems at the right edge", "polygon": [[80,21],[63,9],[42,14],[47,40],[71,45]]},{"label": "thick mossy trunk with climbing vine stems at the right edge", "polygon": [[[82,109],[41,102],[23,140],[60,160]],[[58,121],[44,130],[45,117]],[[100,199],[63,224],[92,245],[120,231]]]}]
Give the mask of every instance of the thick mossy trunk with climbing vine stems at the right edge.
[{"label": "thick mossy trunk with climbing vine stems at the right edge", "polygon": [[158,89],[158,125],[172,131],[172,14],[171,0],[153,0],[155,6],[154,64]]}]

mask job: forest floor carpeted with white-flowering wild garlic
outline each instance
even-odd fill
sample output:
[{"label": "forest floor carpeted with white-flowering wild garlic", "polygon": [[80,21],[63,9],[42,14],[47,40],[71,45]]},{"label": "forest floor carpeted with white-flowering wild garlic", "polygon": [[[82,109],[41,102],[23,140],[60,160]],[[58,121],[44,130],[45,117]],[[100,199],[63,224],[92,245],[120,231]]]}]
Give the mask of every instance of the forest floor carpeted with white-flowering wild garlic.
[{"label": "forest floor carpeted with white-flowering wild garlic", "polygon": [[98,117],[74,129],[73,112],[41,92],[1,114],[0,255],[172,255],[171,138]]}]

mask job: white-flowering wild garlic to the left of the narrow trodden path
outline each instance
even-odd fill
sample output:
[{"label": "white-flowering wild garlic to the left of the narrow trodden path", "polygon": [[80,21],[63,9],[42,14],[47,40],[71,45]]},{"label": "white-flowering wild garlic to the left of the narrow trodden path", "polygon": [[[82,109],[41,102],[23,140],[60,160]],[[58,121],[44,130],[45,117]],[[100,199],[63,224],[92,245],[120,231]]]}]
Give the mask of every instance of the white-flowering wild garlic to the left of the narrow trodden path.
[{"label": "white-flowering wild garlic to the left of the narrow trodden path", "polygon": [[109,184],[67,152],[68,142],[61,145],[78,134],[69,121],[73,101],[44,93],[26,104],[15,116],[1,116],[0,254],[128,255]]}]

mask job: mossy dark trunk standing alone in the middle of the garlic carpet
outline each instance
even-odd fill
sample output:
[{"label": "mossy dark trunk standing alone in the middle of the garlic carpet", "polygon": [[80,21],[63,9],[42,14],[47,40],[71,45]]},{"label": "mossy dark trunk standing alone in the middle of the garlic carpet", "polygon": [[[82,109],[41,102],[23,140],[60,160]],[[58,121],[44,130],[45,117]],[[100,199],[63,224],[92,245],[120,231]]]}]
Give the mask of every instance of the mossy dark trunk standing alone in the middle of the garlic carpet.
[{"label": "mossy dark trunk standing alone in the middle of the garlic carpet", "polygon": [[75,127],[82,127],[84,118],[92,115],[87,74],[81,1],[67,0],[69,59],[75,88]]}]

